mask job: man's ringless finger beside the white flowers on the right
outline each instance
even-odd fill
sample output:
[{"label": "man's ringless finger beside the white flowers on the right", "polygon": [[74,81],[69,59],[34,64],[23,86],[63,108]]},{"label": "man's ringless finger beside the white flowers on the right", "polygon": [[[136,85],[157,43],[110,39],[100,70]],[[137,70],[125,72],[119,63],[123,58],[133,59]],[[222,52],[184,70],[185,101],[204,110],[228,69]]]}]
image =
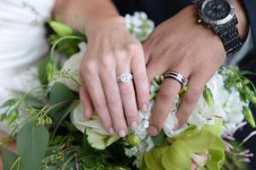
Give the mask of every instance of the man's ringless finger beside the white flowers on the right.
[{"label": "man's ringless finger beside the white flowers on the right", "polygon": [[183,94],[177,110],[177,128],[182,127],[188,121],[204,90],[205,80],[206,78],[201,77],[201,74],[189,78],[188,91]]}]

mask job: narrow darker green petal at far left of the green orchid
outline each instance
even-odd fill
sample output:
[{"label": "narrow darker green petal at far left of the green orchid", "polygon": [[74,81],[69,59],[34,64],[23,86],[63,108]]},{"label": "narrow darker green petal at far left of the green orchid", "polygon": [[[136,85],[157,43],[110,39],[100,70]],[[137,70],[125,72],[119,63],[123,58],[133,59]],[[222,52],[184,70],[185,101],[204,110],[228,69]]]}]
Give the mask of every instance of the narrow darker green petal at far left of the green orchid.
[{"label": "narrow darker green petal at far left of the green orchid", "polygon": [[146,166],[145,169],[164,170],[165,168],[162,166],[161,157],[164,155],[168,147],[168,145],[162,144],[152,150],[149,150],[144,156],[144,166]]}]

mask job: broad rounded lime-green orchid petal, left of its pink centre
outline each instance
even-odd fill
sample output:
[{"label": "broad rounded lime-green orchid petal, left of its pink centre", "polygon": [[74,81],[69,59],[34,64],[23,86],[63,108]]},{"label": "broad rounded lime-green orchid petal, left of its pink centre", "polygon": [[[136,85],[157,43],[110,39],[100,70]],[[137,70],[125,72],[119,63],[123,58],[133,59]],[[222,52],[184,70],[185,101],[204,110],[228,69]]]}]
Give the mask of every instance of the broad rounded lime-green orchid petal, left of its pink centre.
[{"label": "broad rounded lime-green orchid petal, left of its pink centre", "polygon": [[183,141],[177,140],[166,150],[161,162],[166,170],[191,170],[188,146]]}]

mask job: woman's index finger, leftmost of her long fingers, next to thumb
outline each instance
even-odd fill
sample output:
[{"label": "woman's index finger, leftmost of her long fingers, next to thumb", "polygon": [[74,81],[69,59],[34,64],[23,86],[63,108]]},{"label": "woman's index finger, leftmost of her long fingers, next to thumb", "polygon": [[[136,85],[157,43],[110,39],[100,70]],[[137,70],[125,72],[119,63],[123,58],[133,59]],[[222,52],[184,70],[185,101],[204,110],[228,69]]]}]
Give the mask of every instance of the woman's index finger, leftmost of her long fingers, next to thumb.
[{"label": "woman's index finger, leftmost of her long fingers, next to thumb", "polygon": [[94,74],[90,74],[90,76],[84,77],[84,82],[86,87],[88,87],[92,104],[102,121],[103,127],[105,127],[108,133],[114,133],[100,78],[96,77]]}]

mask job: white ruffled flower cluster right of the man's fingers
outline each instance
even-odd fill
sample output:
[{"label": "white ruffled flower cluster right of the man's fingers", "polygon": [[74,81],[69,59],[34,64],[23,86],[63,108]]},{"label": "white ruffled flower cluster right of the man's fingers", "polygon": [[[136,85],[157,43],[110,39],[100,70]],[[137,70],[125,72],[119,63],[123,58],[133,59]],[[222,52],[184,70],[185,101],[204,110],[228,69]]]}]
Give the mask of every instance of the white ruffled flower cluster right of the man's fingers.
[{"label": "white ruffled flower cluster right of the man's fingers", "polygon": [[[241,101],[240,94],[235,88],[231,88],[230,91],[224,88],[224,78],[223,75],[216,73],[207,82],[207,88],[212,92],[213,105],[207,105],[203,95],[201,95],[195,110],[189,116],[188,124],[195,125],[196,127],[202,127],[206,124],[213,125],[214,117],[219,117],[224,120],[224,133],[234,133],[237,124],[241,123],[244,119],[242,107],[245,104]],[[184,126],[177,131],[173,130],[177,124],[175,108],[173,106],[163,128],[169,137],[182,133],[183,129],[186,128]]]}]

